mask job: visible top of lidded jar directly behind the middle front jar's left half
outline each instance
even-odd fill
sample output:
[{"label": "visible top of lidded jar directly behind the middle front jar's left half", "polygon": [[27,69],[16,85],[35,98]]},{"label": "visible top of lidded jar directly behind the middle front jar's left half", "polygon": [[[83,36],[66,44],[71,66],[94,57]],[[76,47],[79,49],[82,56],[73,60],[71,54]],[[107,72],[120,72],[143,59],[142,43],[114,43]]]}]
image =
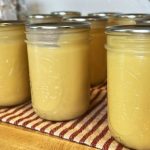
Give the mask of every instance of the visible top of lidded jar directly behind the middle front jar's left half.
[{"label": "visible top of lidded jar directly behind the middle front jar's left half", "polygon": [[28,24],[60,22],[62,18],[50,14],[33,14],[27,17]]}]

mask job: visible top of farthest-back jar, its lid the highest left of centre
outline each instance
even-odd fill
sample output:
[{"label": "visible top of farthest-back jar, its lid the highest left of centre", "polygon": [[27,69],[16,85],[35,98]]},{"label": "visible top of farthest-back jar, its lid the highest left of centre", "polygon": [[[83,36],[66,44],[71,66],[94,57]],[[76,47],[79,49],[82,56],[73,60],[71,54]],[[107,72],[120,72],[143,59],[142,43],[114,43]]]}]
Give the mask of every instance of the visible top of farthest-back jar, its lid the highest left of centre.
[{"label": "visible top of farthest-back jar, its lid the highest left of centre", "polygon": [[78,11],[53,11],[53,12],[51,12],[51,14],[52,15],[59,15],[62,18],[81,16],[81,13]]}]

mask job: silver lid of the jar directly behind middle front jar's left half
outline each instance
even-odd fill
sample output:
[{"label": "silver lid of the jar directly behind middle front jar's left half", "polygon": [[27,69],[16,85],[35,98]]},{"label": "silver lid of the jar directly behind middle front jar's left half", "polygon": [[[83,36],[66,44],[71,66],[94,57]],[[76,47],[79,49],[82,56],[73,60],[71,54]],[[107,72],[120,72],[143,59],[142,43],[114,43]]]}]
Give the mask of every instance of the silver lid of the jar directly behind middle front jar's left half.
[{"label": "silver lid of the jar directly behind middle front jar's left half", "polygon": [[32,14],[28,16],[28,19],[43,19],[43,18],[55,18],[59,17],[58,15],[51,15],[51,14]]}]

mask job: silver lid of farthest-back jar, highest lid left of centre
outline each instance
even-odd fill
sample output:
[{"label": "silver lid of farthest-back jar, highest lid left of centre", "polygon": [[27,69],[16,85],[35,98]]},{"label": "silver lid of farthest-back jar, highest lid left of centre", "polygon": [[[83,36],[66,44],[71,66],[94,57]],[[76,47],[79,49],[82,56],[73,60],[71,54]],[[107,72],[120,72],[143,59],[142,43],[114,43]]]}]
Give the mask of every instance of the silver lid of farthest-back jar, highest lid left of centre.
[{"label": "silver lid of farthest-back jar, highest lid left of centre", "polygon": [[65,16],[65,15],[78,15],[80,16],[81,13],[79,11],[53,11],[51,12],[52,15],[60,15],[60,16]]}]

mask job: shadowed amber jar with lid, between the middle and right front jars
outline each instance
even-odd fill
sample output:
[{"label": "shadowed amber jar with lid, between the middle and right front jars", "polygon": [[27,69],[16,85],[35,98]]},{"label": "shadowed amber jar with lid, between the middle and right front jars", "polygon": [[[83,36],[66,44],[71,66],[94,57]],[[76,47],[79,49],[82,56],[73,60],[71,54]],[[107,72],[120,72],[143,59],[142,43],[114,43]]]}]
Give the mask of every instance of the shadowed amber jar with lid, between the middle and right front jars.
[{"label": "shadowed amber jar with lid, between the middle and right front jars", "polygon": [[96,86],[106,80],[106,42],[105,27],[107,18],[96,16],[81,16],[65,19],[66,21],[90,23],[90,76],[91,85]]}]

